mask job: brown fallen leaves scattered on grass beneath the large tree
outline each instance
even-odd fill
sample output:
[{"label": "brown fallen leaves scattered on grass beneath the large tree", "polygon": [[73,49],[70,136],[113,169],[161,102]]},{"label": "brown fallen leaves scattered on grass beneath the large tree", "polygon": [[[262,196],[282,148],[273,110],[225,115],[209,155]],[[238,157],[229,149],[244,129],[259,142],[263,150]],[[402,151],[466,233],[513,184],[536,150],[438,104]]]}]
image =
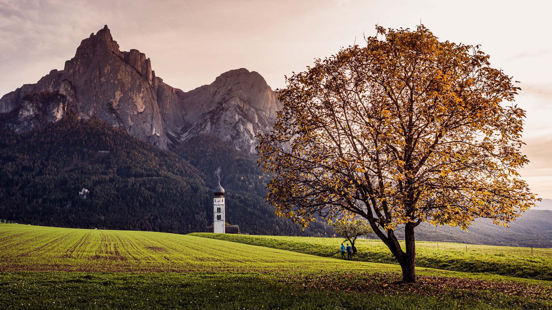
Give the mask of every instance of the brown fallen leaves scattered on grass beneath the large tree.
[{"label": "brown fallen leaves scattered on grass beneath the large tree", "polygon": [[[280,274],[282,275],[282,274]],[[394,272],[297,272],[281,277],[286,285],[302,287],[307,291],[346,291],[360,293],[404,293],[433,296],[439,299],[507,302],[523,306],[529,301],[552,301],[552,287],[517,281],[477,280],[464,277],[417,276],[416,283],[401,282]]]}]

